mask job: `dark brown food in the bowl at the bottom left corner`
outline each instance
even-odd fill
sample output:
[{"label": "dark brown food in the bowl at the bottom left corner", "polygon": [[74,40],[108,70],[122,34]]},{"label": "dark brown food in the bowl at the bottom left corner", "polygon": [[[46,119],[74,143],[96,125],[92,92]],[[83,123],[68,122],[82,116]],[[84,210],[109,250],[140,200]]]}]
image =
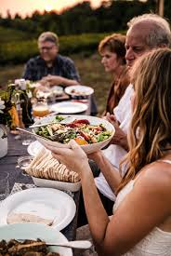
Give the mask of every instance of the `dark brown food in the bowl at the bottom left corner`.
[{"label": "dark brown food in the bowl at the bottom left corner", "polygon": [[[21,238],[21,237],[20,237]],[[46,242],[37,239],[24,240],[19,242],[18,240],[11,239],[10,241],[0,241],[0,255],[6,256],[59,256],[57,252],[50,252]]]}]

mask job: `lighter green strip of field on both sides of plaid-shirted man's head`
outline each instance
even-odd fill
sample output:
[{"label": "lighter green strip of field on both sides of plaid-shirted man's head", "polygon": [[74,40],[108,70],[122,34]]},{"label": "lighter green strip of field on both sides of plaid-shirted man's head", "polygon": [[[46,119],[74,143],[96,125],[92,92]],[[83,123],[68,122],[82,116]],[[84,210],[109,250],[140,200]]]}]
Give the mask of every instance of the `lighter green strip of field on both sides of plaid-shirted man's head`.
[{"label": "lighter green strip of field on both sides of plaid-shirted man's head", "polygon": [[[99,41],[106,34],[78,34],[59,37],[59,52],[64,55],[97,50]],[[9,35],[10,36],[10,35]],[[34,40],[9,42],[0,45],[0,64],[17,64],[28,61],[38,54],[37,42]]]}]

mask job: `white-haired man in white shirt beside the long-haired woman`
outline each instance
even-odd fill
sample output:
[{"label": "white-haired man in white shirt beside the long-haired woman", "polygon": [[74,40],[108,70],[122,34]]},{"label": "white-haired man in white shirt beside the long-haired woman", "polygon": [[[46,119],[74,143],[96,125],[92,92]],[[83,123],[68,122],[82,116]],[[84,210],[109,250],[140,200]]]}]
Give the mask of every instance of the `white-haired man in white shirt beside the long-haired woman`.
[{"label": "white-haired man in white shirt beside the long-haired woman", "polygon": [[[143,54],[158,47],[171,47],[171,31],[169,24],[162,17],[155,14],[144,14],[133,18],[128,22],[128,31],[125,40],[125,60],[129,68]],[[95,178],[96,186],[99,190],[99,195],[108,214],[112,214],[112,206],[115,201],[114,191],[111,187],[111,176],[105,172],[105,157],[115,167],[113,171],[117,179],[119,174],[119,163],[128,151],[126,134],[132,117],[131,97],[134,89],[129,85],[125,90],[125,94],[118,106],[114,108],[114,115],[107,115],[107,119],[112,122],[115,128],[115,135],[112,138],[111,144],[107,149],[102,150],[102,155],[90,155],[90,157],[98,163],[98,166],[93,163],[91,166],[93,172],[100,170],[99,177]],[[122,169],[122,176],[125,175],[125,169]],[[110,187],[111,184],[111,187]],[[80,218],[83,216],[84,209],[80,207]]]}]

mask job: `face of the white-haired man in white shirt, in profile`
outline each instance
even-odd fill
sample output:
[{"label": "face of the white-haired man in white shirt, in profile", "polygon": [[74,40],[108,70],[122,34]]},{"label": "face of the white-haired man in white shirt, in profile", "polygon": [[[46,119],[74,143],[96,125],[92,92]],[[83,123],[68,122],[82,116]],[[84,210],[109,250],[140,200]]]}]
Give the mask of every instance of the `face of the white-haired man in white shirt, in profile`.
[{"label": "face of the white-haired man in white shirt, in profile", "polygon": [[128,67],[132,67],[138,57],[151,50],[145,40],[148,34],[149,28],[142,24],[128,30],[125,40],[125,60]]}]

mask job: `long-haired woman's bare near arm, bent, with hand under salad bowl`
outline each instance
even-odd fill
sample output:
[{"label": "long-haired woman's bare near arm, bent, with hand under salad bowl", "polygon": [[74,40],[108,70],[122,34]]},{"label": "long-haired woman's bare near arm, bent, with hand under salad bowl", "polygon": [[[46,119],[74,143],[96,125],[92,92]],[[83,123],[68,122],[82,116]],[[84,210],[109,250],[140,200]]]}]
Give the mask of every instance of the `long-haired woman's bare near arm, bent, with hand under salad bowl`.
[{"label": "long-haired woman's bare near arm, bent, with hand under salad bowl", "polygon": [[71,149],[48,149],[81,176],[85,211],[99,255],[122,255],[171,215],[168,164],[157,163],[144,168],[110,221],[100,202],[85,153],[74,141],[70,146]]}]

